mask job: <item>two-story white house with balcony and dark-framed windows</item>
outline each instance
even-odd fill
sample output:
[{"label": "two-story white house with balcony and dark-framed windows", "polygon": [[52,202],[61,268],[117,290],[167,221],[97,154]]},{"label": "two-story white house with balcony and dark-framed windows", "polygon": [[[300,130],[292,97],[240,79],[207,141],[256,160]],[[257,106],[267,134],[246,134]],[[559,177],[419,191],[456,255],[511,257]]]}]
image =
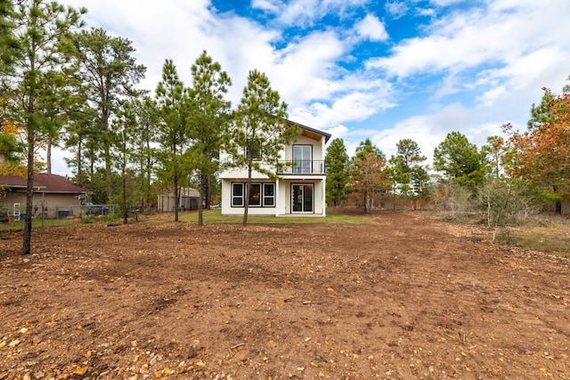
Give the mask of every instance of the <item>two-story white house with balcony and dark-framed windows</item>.
[{"label": "two-story white house with balcony and dark-framed windows", "polygon": [[[305,125],[298,126],[301,134],[281,151],[281,161],[285,166],[275,173],[279,178],[272,180],[265,174],[253,172],[248,214],[326,216],[324,156],[330,134]],[[222,164],[230,160],[226,153],[221,152]],[[260,160],[263,162],[263,158]],[[222,214],[243,214],[247,168],[224,170],[220,180]]]}]

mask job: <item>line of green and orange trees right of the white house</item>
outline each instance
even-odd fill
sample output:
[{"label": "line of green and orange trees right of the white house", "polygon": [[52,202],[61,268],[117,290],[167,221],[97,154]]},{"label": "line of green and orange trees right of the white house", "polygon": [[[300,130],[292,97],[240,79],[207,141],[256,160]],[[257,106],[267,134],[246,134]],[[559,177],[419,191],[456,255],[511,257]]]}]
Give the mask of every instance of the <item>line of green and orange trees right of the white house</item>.
[{"label": "line of green and orange trees right of the white house", "polygon": [[570,88],[543,91],[527,130],[502,125],[504,136],[488,137],[480,149],[462,133],[448,133],[432,166],[411,139],[398,141],[389,159],[370,139],[353,158],[344,141],[333,140],[326,156],[328,203],[362,205],[371,213],[390,200],[404,208],[421,200],[453,212],[478,211],[495,226],[549,206],[562,214],[570,200]]}]

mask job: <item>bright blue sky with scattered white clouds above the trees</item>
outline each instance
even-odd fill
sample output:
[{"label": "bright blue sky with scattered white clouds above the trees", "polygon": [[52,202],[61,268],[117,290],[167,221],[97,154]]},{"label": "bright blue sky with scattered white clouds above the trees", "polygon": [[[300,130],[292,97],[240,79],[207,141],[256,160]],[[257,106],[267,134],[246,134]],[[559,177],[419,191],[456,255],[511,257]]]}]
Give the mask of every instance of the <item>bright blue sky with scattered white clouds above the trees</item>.
[{"label": "bright blue sky with scattered white clouds above the trees", "polygon": [[[240,101],[258,69],[289,118],[332,133],[354,154],[371,138],[390,157],[403,138],[433,150],[452,131],[481,146],[525,128],[542,87],[570,75],[567,0],[65,0],[87,27],[133,42],[154,91],[172,59],[186,85],[206,50]],[[65,153],[60,153],[65,154]],[[54,163],[55,173],[66,173]]]}]

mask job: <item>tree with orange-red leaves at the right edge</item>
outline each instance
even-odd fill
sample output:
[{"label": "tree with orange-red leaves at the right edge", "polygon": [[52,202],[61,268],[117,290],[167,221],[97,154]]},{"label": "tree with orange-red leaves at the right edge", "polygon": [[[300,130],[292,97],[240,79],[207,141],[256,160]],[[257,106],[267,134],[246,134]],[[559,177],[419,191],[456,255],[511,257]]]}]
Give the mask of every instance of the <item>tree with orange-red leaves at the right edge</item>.
[{"label": "tree with orange-red leaves at the right edge", "polygon": [[509,133],[509,153],[505,156],[507,173],[545,187],[546,200],[556,203],[562,213],[562,201],[570,198],[570,93],[551,96],[546,103],[549,117],[544,123],[533,124],[530,131]]}]

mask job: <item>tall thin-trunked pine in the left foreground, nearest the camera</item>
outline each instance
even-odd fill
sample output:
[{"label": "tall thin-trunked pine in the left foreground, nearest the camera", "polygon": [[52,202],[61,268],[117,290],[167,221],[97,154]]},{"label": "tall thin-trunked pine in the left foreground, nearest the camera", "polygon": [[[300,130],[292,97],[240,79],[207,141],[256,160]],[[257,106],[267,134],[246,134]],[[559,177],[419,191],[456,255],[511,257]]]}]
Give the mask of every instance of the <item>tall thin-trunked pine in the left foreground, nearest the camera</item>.
[{"label": "tall thin-trunked pine in the left foreground, nearest the camera", "polygon": [[54,87],[66,84],[63,68],[68,60],[64,52],[69,47],[72,29],[82,26],[82,13],[85,8],[77,10],[44,0],[21,0],[12,14],[15,41],[20,47],[13,61],[18,75],[12,77],[10,89],[12,120],[22,125],[28,150],[22,255],[31,251],[35,154],[38,144],[46,142],[46,135],[53,127],[53,109],[64,101],[54,96]]}]

